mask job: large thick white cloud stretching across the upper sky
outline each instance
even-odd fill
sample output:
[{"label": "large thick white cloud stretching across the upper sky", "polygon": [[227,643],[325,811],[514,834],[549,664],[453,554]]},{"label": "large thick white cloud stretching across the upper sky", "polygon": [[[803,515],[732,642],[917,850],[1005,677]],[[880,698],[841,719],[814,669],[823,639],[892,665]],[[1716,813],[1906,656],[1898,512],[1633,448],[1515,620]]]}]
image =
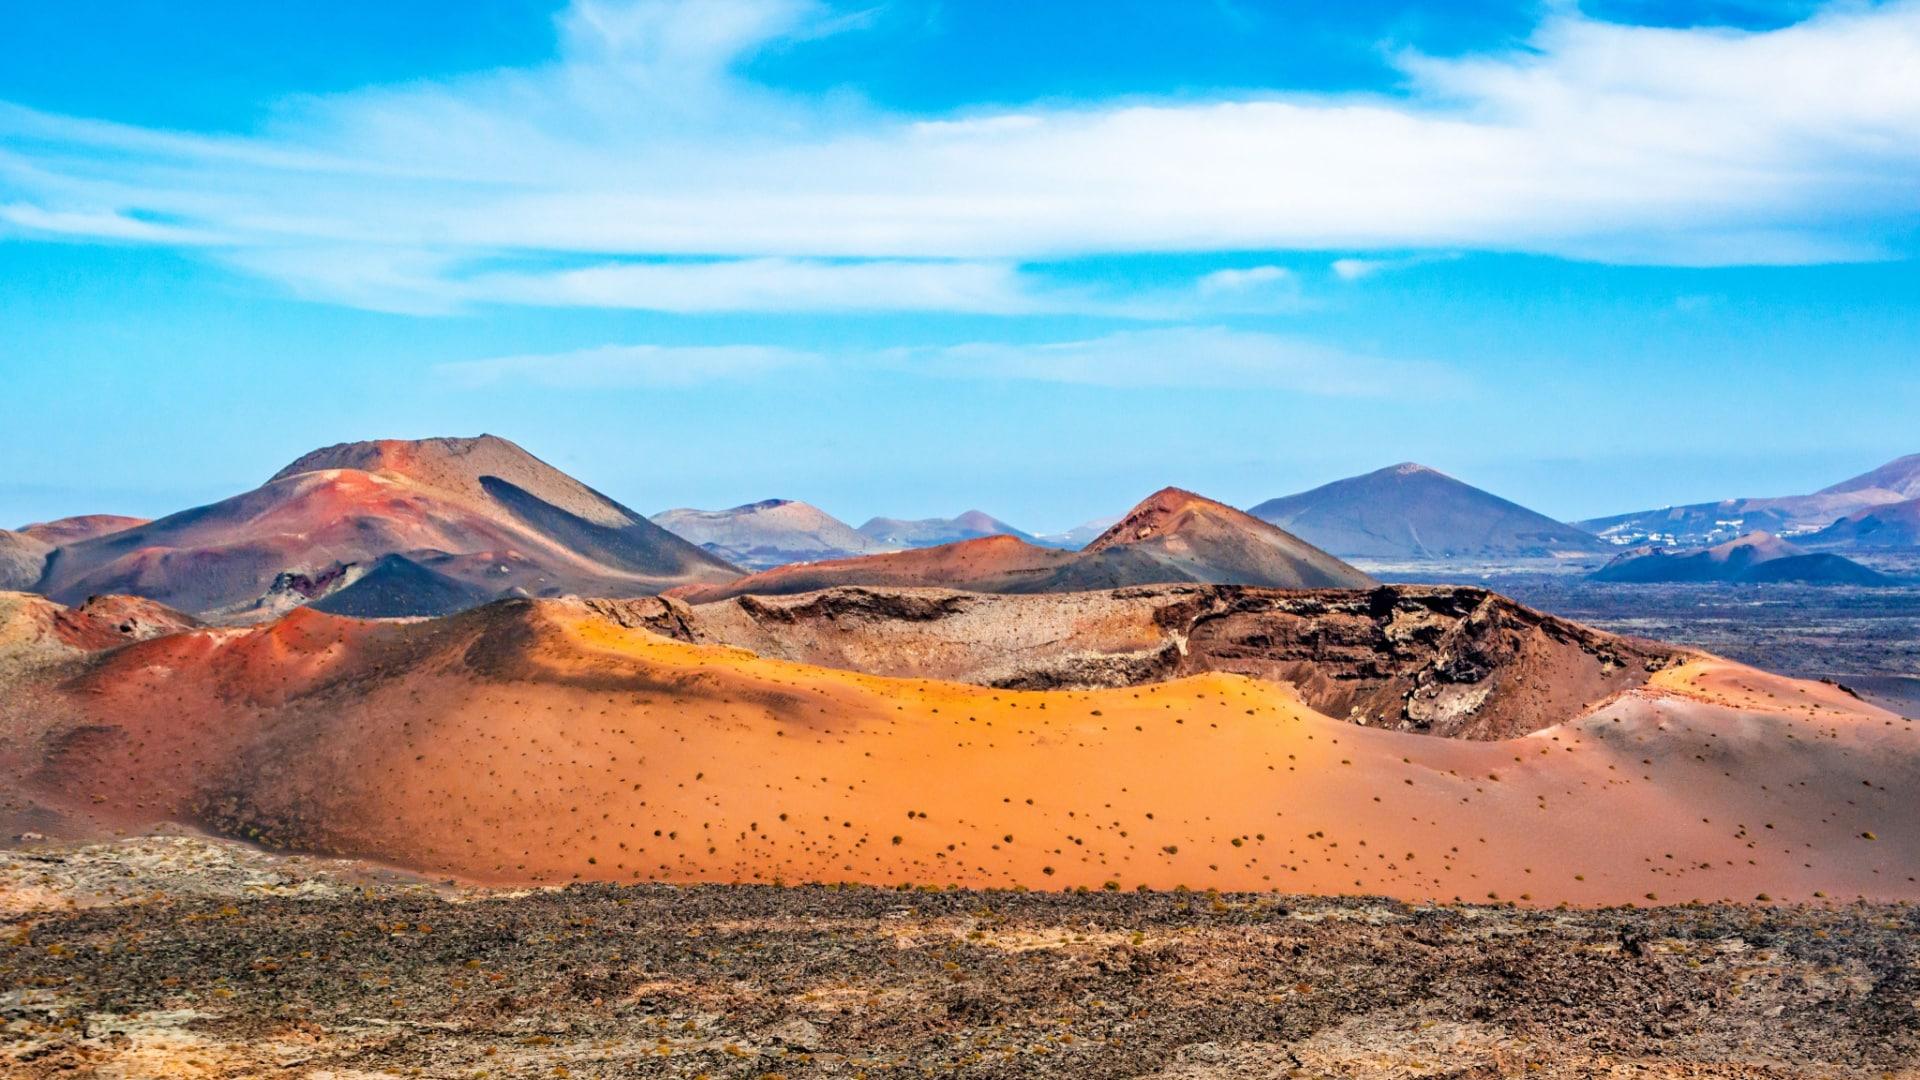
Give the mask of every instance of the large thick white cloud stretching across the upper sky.
[{"label": "large thick white cloud stretching across the upper sky", "polygon": [[[399,309],[1004,313],[1116,304],[1018,269],[1073,256],[1807,263],[1887,256],[1920,213],[1920,0],[1768,33],[1561,12],[1521,50],[1400,58],[1405,98],[914,117],[735,73],[847,25],[803,0],[576,0],[547,65],[288,102],[252,136],[0,106],[0,202],[19,229],[217,242]],[[620,261],[660,258],[707,263]],[[1229,281],[1271,284],[1212,292]]]}]

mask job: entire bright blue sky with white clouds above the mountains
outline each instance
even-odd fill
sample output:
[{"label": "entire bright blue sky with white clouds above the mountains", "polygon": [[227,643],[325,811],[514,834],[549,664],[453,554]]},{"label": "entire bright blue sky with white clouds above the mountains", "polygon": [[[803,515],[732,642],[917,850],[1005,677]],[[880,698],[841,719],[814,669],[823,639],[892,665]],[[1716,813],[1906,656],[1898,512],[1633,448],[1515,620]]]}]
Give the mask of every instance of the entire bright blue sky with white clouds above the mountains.
[{"label": "entire bright blue sky with white clouds above the mountains", "polygon": [[1064,528],[1920,452],[1920,4],[8,4],[0,525],[492,430]]}]

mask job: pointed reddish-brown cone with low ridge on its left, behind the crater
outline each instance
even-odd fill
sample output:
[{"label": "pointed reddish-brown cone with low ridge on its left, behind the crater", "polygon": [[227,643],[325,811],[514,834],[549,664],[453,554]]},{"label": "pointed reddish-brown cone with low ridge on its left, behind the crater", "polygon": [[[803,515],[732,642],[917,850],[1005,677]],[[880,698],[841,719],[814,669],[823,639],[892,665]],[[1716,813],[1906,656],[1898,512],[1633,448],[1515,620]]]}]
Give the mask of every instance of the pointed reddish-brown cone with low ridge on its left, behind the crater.
[{"label": "pointed reddish-brown cone with low ridge on its left, behind the crater", "polygon": [[945,586],[970,592],[1083,592],[1131,584],[1210,582],[1273,588],[1369,588],[1367,575],[1231,505],[1165,488],[1081,552],[1018,536],[789,565],[718,586],[672,590],[691,603],[783,596],[841,584]]}]

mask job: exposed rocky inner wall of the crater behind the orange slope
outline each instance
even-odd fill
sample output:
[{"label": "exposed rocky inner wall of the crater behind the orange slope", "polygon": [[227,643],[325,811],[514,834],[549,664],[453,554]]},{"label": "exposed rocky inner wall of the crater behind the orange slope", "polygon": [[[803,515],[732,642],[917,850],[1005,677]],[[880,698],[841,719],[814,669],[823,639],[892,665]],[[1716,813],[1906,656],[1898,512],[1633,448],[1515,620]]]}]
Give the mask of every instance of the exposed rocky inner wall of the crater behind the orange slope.
[{"label": "exposed rocky inner wall of the crater behind the orange slope", "polygon": [[1048,690],[1227,671],[1288,682],[1331,717],[1480,740],[1578,717],[1684,655],[1459,586],[831,588],[699,607],[588,603],[680,640],[870,675]]}]

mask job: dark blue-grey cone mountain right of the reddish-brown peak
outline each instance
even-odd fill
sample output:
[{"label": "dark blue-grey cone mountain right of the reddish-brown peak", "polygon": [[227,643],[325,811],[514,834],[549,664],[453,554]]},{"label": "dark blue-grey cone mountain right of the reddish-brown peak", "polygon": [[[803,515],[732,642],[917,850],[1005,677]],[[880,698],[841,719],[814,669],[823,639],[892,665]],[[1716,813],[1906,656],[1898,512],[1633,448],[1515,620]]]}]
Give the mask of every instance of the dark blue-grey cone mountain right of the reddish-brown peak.
[{"label": "dark blue-grey cone mountain right of the reddish-brown peak", "polygon": [[1348,559],[1584,555],[1605,550],[1592,532],[1411,461],[1267,500],[1248,513]]}]

